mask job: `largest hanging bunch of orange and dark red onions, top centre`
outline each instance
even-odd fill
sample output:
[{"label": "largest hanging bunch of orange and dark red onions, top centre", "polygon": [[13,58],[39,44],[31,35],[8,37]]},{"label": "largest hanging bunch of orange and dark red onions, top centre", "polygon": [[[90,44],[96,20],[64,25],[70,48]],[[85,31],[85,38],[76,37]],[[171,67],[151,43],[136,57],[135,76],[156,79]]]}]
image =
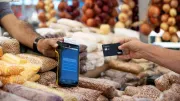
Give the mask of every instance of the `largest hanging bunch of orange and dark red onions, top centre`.
[{"label": "largest hanging bunch of orange and dark red onions, top centre", "polygon": [[85,0],[81,21],[90,27],[98,27],[101,24],[113,27],[118,16],[117,6],[117,0]]}]

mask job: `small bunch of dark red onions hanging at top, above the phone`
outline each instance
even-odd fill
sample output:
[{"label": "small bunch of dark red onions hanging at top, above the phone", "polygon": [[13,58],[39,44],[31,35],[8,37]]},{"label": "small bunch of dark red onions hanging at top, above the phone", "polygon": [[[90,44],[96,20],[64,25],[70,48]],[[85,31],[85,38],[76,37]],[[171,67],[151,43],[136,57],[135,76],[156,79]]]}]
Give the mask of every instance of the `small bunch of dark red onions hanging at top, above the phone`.
[{"label": "small bunch of dark red onions hanging at top, above the phone", "polygon": [[73,20],[80,19],[79,0],[72,0],[72,5],[67,4],[68,0],[61,0],[58,5],[59,17]]}]

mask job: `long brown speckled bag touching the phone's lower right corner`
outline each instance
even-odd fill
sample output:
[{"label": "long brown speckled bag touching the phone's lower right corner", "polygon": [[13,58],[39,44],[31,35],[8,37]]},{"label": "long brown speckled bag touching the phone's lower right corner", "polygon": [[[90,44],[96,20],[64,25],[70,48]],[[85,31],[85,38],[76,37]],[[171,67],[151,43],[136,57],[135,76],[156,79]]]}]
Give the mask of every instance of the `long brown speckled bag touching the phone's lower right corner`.
[{"label": "long brown speckled bag touching the phone's lower right corner", "polygon": [[115,88],[118,87],[119,84],[105,79],[92,79],[80,77],[79,86],[101,91],[105,97],[113,98],[115,97],[115,95],[117,95]]}]

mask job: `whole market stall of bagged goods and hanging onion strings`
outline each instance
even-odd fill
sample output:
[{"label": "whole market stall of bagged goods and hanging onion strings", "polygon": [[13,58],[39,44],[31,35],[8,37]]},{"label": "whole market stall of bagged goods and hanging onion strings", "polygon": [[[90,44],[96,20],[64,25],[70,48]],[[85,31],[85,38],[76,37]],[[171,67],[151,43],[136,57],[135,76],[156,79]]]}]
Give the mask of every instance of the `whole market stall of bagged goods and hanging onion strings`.
[{"label": "whole market stall of bagged goods and hanging onion strings", "polygon": [[[5,32],[0,37],[0,101],[179,101],[179,74],[145,59],[104,57],[102,49],[126,37],[141,40],[141,34],[149,35],[151,44],[159,38],[178,48],[178,0],[152,0],[144,20],[141,0],[54,2],[39,0],[34,6],[35,31],[79,45],[78,85],[58,85],[58,59],[22,47]],[[160,29],[162,35],[152,36]]]}]

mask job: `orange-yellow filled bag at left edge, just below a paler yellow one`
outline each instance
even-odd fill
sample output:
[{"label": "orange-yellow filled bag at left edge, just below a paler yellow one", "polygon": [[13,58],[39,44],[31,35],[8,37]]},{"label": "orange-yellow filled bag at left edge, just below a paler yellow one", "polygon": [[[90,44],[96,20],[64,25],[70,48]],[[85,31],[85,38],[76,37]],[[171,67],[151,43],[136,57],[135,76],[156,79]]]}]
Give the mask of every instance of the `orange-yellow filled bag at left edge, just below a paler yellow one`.
[{"label": "orange-yellow filled bag at left edge, just below a paler yellow one", "polygon": [[24,70],[24,67],[9,64],[0,60],[0,76],[19,75]]}]

